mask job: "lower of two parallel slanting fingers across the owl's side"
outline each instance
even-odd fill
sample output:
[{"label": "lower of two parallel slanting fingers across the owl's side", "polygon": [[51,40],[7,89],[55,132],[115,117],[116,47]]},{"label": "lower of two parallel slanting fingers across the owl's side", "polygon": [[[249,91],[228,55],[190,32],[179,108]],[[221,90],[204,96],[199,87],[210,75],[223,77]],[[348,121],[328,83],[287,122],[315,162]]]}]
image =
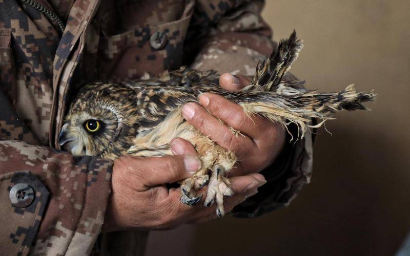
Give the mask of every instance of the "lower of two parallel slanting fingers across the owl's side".
[{"label": "lower of two parallel slanting fingers across the owl's side", "polygon": [[189,102],[182,108],[182,115],[205,136],[210,136],[218,145],[230,151],[238,152],[242,148],[253,146],[249,137],[235,135],[227,125],[209,114],[196,103]]}]

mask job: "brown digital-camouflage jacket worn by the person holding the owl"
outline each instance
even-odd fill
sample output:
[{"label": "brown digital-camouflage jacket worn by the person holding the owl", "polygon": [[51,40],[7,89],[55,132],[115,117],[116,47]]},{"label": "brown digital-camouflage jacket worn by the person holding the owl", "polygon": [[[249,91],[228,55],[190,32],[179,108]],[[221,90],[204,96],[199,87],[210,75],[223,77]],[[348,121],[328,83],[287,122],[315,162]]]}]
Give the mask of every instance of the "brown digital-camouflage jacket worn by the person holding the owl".
[{"label": "brown digital-camouflage jacket worn by the person holding the owl", "polygon": [[[262,6],[249,0],[0,0],[1,254],[89,254],[93,248],[114,254],[110,244],[128,246],[132,254],[144,250],[146,234],[137,232],[127,235],[134,241],[128,245],[124,233],[97,241],[113,163],[58,150],[70,94],[86,81],[132,79],[181,65],[252,75],[274,46]],[[288,204],[309,182],[311,166],[308,135],[263,170],[268,183],[233,215],[253,217]]]}]

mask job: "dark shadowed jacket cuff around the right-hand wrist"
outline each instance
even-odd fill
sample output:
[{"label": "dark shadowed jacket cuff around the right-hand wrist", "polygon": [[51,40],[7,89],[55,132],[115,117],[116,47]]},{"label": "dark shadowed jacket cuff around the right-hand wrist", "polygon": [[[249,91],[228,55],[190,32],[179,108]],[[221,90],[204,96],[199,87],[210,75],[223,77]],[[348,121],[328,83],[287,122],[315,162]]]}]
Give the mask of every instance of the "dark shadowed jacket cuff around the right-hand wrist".
[{"label": "dark shadowed jacket cuff around the right-hand wrist", "polygon": [[[296,126],[288,129],[294,139],[298,138]],[[303,139],[288,142],[276,161],[262,170],[268,182],[258,189],[258,194],[237,205],[232,215],[252,218],[288,205],[303,185],[310,183],[314,140],[314,131],[307,131]]]}]

